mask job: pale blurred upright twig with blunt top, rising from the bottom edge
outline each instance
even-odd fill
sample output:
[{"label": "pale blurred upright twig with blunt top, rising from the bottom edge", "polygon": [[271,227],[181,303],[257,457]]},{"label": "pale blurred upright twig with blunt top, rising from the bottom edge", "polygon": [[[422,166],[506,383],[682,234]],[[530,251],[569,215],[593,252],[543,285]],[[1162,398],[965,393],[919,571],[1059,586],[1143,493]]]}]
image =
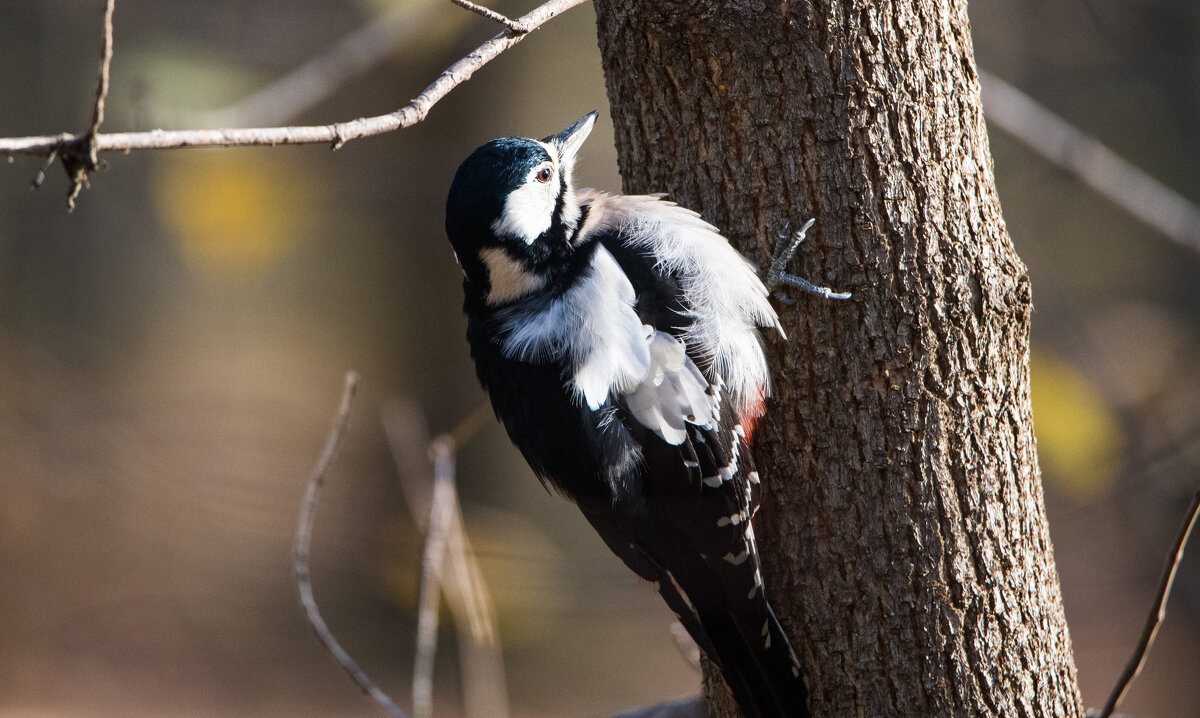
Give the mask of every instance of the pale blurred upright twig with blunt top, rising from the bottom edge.
[{"label": "pale blurred upright twig with blunt top, rising from the bottom edge", "polygon": [[438,648],[438,604],[446,557],[446,537],[455,513],[454,439],[442,435],[430,444],[433,459],[433,501],[430,505],[421,599],[416,618],[416,658],[413,664],[413,716],[433,716],[433,657]]}]

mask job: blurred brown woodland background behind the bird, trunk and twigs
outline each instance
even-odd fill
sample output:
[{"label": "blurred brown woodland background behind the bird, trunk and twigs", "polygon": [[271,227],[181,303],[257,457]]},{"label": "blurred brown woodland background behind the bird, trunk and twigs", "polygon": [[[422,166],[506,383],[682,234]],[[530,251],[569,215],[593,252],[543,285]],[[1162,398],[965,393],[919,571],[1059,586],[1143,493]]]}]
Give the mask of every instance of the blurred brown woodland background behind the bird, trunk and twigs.
[{"label": "blurred brown woodland background behind the bird, trunk and twigs", "polygon": [[[86,126],[102,5],[0,0],[0,136]],[[493,4],[514,17],[535,5]],[[1200,202],[1200,5],[971,12],[980,67]],[[236,118],[214,110],[386,13],[408,32],[384,61],[264,124],[390,112],[497,30],[442,0],[121,0],[104,130]],[[380,407],[408,397],[444,431],[484,401],[445,191],[482,142],[547,134],[594,108],[578,181],[618,190],[583,6],[427,121],[337,152],[110,155],[71,215],[58,168],[31,192],[40,161],[0,167],[0,717],[382,714],[312,636],[290,573],[348,369],[362,387],[318,514],[313,584],[349,652],[409,705],[421,537]],[[1050,527],[1085,702],[1098,706],[1200,483],[1200,257],[995,127],[991,143],[1033,280]],[[458,459],[512,716],[600,717],[698,690],[653,591],[497,425]],[[1193,717],[1196,675],[1193,546],[1123,707]],[[461,714],[449,629],[436,676],[438,716]]]}]

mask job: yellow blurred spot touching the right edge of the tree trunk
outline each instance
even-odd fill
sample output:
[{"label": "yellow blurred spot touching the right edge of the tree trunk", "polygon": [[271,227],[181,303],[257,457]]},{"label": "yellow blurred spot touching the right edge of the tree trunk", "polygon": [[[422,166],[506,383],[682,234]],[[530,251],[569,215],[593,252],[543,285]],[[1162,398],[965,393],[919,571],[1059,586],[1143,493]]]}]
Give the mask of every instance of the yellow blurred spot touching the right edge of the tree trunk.
[{"label": "yellow blurred spot touching the right edge of the tree trunk", "polygon": [[1082,373],[1052,354],[1033,353],[1030,381],[1046,480],[1078,498],[1108,492],[1122,448],[1112,408]]}]

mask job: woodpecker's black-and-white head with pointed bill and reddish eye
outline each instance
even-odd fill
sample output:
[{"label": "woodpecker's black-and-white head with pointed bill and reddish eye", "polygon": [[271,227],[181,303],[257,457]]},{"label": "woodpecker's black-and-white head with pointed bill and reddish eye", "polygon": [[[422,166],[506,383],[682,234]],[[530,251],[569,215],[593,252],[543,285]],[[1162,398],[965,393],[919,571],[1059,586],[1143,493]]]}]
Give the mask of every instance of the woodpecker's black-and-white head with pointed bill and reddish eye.
[{"label": "woodpecker's black-and-white head with pointed bill and reddish eye", "polygon": [[570,256],[580,221],[571,187],[592,112],[544,139],[502,137],[458,167],[446,199],[446,235],[468,285],[491,305],[544,287]]}]

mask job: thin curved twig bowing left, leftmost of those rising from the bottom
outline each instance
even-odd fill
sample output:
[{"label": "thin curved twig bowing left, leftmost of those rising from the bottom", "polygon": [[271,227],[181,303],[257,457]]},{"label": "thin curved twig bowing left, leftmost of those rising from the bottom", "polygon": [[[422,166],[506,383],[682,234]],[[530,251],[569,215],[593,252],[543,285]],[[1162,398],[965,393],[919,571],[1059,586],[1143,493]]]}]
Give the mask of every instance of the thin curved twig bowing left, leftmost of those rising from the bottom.
[{"label": "thin curved twig bowing left, leftmost of those rising from the bottom", "polygon": [[383,706],[385,711],[392,718],[408,718],[400,706],[388,696],[374,681],[371,680],[367,674],[359,668],[359,664],[350,658],[349,653],[342,648],[342,645],[337,642],[334,638],[334,633],[329,629],[325,620],[320,616],[320,610],[317,608],[317,600],[312,594],[312,576],[308,572],[308,557],[310,557],[310,545],[312,544],[312,523],[317,515],[317,501],[320,497],[320,487],[325,483],[325,475],[329,473],[330,467],[334,465],[334,457],[337,455],[337,449],[342,443],[342,438],[346,436],[346,430],[350,423],[350,408],[354,406],[354,394],[358,389],[359,376],[355,372],[349,372],[346,375],[346,388],[342,391],[342,401],[337,409],[337,419],[334,421],[334,427],[329,432],[329,438],[325,441],[325,448],[320,453],[320,459],[317,460],[317,466],[312,469],[312,475],[308,477],[308,489],[305,491],[304,503],[300,504],[300,521],[296,526],[296,543],[295,550],[292,556],[292,567],[296,576],[296,586],[300,591],[300,605],[304,606],[305,615],[308,617],[308,623],[312,629],[317,633],[317,638],[320,642],[325,645],[325,648],[334,654],[337,663],[349,674],[350,678],[354,680],[359,687],[370,695],[377,704]]}]

